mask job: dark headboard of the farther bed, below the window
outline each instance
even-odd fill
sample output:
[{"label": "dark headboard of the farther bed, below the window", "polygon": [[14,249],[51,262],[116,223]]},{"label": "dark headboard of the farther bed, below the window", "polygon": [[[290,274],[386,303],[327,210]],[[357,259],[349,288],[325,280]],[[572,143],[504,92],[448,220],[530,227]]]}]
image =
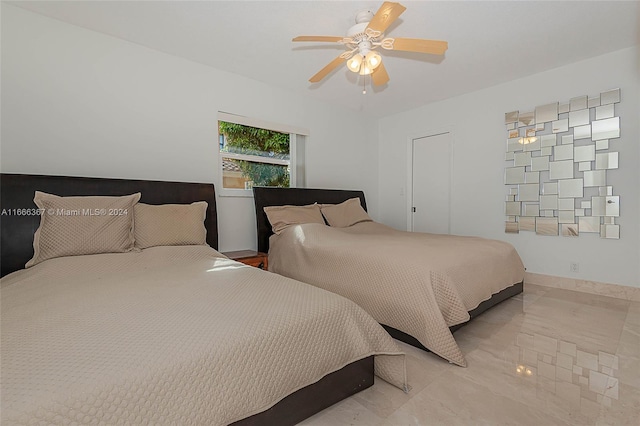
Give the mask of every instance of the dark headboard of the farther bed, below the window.
[{"label": "dark headboard of the farther bed, below the window", "polygon": [[360,198],[362,208],[367,210],[364,192],[342,189],[275,188],[254,186],[253,201],[256,206],[258,251],[269,252],[269,237],[273,235],[271,224],[264,212],[269,206],[304,206],[307,204],[339,204],[350,198]]}]

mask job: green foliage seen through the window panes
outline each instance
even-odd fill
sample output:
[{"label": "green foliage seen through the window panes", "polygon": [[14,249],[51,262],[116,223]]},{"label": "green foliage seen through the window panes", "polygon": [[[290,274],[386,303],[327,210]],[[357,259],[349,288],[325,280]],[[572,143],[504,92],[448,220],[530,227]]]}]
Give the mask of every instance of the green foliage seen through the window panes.
[{"label": "green foliage seen through the window panes", "polygon": [[[220,134],[225,136],[226,146],[234,152],[263,152],[277,157],[289,154],[289,134],[273,130],[219,122]],[[234,149],[235,148],[235,149]],[[289,187],[287,166],[269,163],[233,160],[242,174],[258,186]]]}]

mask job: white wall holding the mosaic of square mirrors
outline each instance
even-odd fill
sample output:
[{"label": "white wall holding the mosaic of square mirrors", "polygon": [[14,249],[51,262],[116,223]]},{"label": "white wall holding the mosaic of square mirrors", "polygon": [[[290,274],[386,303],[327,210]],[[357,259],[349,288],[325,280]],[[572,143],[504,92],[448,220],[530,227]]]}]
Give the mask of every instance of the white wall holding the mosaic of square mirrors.
[{"label": "white wall holding the mosaic of square mirrors", "polygon": [[[406,193],[408,140],[451,129],[452,233],[509,241],[529,272],[640,287],[639,76],[638,49],[629,48],[380,120],[379,219],[406,229],[401,191]],[[620,152],[620,169],[608,173],[608,184],[621,198],[620,240],[505,234],[504,113],[616,87],[622,94],[616,105],[622,137],[611,145]],[[569,271],[570,262],[579,263],[579,273]]]}]

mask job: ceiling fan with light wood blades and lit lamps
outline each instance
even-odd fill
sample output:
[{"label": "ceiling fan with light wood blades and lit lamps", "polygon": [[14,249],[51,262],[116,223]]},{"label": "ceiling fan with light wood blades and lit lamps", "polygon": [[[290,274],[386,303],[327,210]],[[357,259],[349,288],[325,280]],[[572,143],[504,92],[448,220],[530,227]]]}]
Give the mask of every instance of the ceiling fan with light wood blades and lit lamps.
[{"label": "ceiling fan with light wood blades and lit lamps", "polygon": [[[380,86],[389,81],[389,74],[382,63],[382,57],[375,50],[381,47],[386,50],[419,52],[432,55],[443,55],[448,44],[441,40],[424,40],[418,38],[384,37],[389,28],[407,8],[400,3],[386,1],[375,15],[364,10],[356,15],[356,24],[349,28],[346,37],[339,36],[298,36],[292,41],[320,41],[344,44],[347,50],[340,54],[327,66],[309,79],[317,83],[331,71],[347,62],[347,68],[360,75],[371,75],[373,84]],[[366,92],[366,91],[365,91]]]}]

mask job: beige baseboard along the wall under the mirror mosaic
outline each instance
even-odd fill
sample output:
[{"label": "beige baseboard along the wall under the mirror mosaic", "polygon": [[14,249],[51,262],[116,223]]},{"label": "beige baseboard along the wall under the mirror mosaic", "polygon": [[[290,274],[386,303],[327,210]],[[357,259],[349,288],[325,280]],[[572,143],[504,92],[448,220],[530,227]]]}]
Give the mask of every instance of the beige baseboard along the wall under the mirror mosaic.
[{"label": "beige baseboard along the wall under the mirror mosaic", "polygon": [[583,293],[640,302],[640,287],[577,280],[574,278],[535,274],[533,272],[525,272],[524,282],[525,286],[526,284],[536,284],[544,287],[562,288],[565,290],[580,291]]}]

